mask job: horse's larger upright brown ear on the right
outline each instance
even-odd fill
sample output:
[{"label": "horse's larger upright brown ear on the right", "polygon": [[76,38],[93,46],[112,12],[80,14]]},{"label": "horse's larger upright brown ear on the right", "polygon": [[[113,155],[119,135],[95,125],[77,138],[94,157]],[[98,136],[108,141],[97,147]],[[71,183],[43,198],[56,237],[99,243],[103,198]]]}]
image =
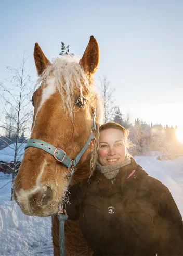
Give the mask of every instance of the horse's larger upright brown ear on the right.
[{"label": "horse's larger upright brown ear on the right", "polygon": [[80,59],[80,65],[86,73],[93,74],[97,70],[100,54],[99,45],[94,36],[90,36],[88,46]]}]

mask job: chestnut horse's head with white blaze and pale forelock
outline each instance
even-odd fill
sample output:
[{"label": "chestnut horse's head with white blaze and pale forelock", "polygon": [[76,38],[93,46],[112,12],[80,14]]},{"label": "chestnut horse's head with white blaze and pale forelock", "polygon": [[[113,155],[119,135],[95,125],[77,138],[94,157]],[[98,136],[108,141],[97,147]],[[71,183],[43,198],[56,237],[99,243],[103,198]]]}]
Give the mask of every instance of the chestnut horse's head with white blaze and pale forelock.
[{"label": "chestnut horse's head with white blaze and pale forelock", "polygon": [[[79,63],[71,56],[50,63],[36,43],[34,60],[41,85],[33,94],[31,139],[61,148],[74,159],[91,135],[97,109],[92,74],[99,63],[98,43],[90,37]],[[92,143],[79,164],[91,150]],[[66,166],[43,149],[28,147],[15,179],[15,199],[25,214],[48,216],[57,212],[67,182]]]}]

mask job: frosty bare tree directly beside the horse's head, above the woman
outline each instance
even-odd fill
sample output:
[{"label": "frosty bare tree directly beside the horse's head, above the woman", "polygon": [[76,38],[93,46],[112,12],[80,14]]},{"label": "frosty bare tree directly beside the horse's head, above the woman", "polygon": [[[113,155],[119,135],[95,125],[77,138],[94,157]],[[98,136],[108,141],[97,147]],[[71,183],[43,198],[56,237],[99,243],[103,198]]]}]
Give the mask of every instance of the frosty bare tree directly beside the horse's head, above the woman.
[{"label": "frosty bare tree directly beside the horse's head, above the woman", "polygon": [[103,79],[100,79],[101,83],[101,95],[103,100],[103,118],[104,123],[114,120],[117,106],[114,99],[115,88],[111,87],[111,83],[107,80],[107,77],[104,76]]}]

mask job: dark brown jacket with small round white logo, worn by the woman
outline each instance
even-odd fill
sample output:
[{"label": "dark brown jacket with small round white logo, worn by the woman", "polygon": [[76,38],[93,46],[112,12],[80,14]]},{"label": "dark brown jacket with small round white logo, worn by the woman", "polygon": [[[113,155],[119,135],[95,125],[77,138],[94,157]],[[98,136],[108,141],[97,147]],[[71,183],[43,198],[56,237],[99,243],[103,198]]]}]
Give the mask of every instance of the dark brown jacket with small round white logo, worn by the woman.
[{"label": "dark brown jacket with small round white logo, worn by the woman", "polygon": [[89,182],[73,185],[69,201],[67,214],[79,218],[96,256],[183,255],[182,217],[171,193],[133,158],[113,184],[95,172]]}]

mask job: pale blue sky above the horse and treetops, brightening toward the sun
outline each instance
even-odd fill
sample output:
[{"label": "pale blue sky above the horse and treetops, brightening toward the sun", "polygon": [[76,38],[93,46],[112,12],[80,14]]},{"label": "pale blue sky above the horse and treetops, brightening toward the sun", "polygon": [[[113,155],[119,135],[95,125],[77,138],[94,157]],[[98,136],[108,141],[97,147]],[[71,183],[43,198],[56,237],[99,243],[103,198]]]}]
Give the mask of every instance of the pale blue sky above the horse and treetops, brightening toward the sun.
[{"label": "pale blue sky above the horse and treetops, brightening toward the sun", "polygon": [[183,1],[0,1],[1,76],[26,50],[36,70],[34,42],[49,59],[61,41],[82,56],[90,35],[100,45],[96,74],[106,75],[124,114],[183,128]]}]

